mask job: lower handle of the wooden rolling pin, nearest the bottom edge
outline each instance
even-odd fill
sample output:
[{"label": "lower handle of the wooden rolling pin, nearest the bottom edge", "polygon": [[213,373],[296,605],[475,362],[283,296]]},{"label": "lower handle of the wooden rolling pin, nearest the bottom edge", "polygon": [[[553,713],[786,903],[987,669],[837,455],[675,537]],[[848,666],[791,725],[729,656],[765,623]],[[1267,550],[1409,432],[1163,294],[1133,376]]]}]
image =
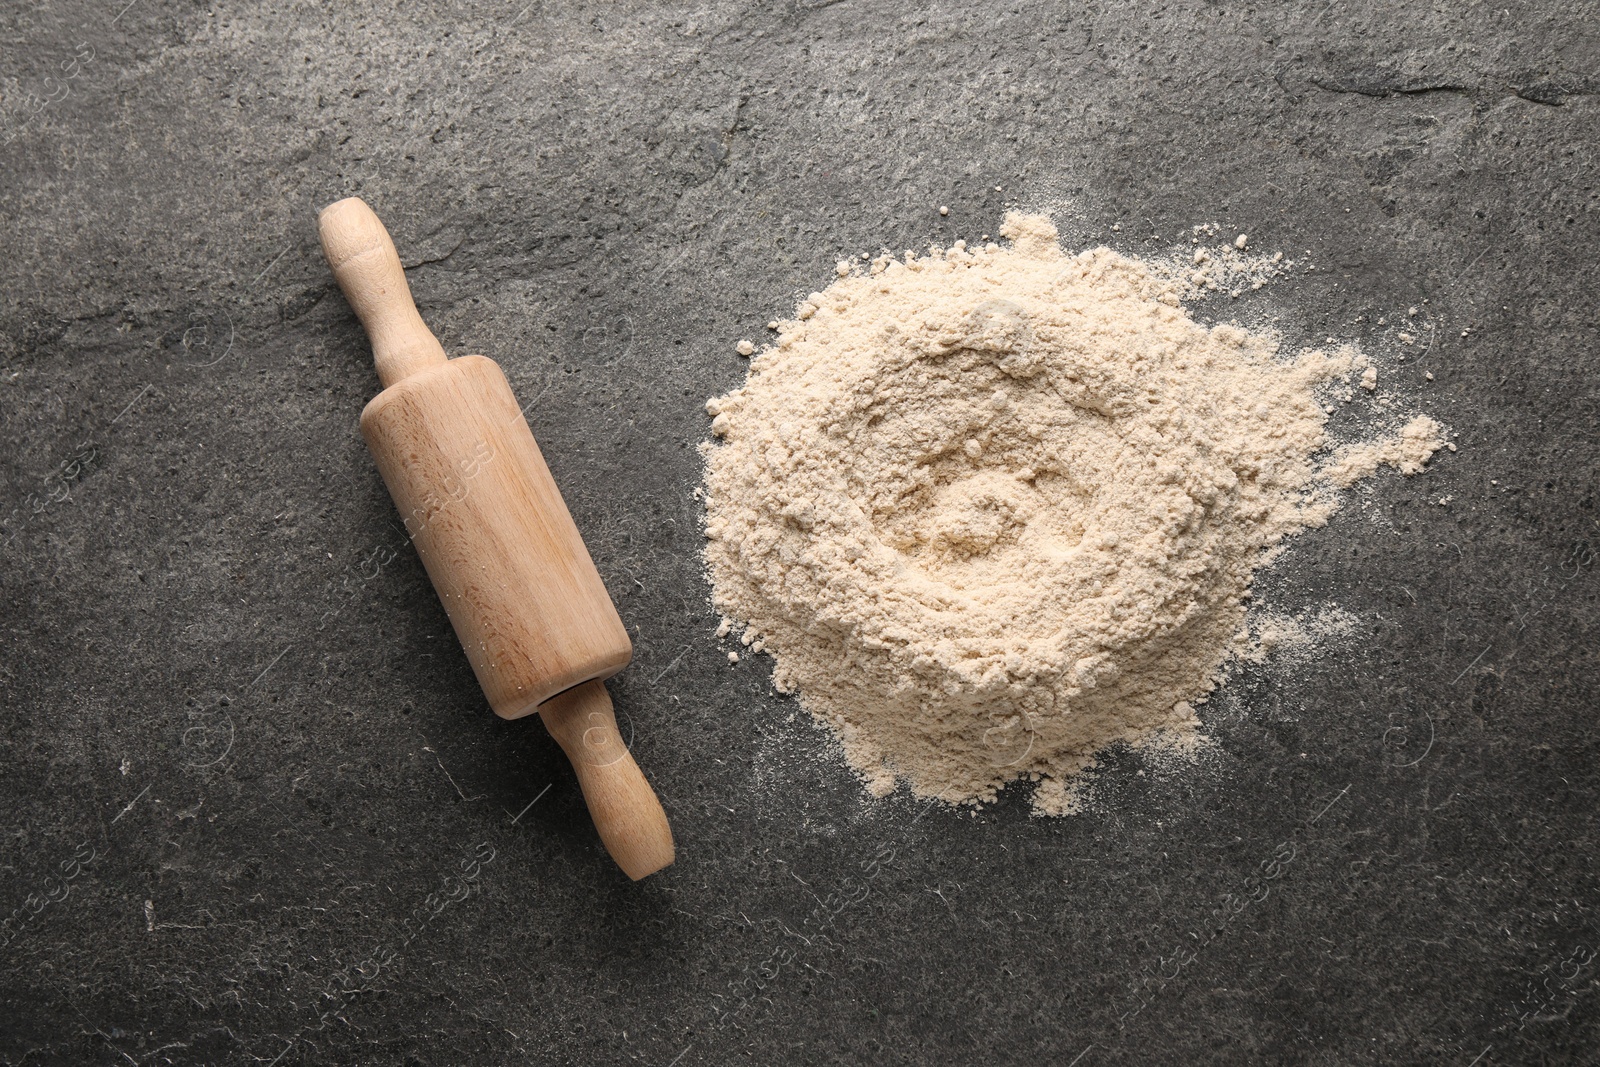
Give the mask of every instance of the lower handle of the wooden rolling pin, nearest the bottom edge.
[{"label": "lower handle of the wooden rolling pin, nearest the bottom edge", "polygon": [[638,881],[669,865],[675,851],[667,813],[616,731],[605,681],[557,693],[539,717],[573,761],[600,840],[622,873]]}]

